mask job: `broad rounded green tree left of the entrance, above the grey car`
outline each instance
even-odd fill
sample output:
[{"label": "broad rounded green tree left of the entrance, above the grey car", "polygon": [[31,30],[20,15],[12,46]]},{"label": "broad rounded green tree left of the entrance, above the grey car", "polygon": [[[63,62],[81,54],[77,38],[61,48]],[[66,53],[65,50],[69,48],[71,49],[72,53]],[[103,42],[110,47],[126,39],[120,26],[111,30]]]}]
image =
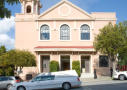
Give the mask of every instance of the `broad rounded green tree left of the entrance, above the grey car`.
[{"label": "broad rounded green tree left of the entrance, above the grey car", "polygon": [[0,57],[0,65],[13,66],[17,71],[18,67],[22,71],[23,67],[36,66],[35,56],[26,50],[10,50]]}]

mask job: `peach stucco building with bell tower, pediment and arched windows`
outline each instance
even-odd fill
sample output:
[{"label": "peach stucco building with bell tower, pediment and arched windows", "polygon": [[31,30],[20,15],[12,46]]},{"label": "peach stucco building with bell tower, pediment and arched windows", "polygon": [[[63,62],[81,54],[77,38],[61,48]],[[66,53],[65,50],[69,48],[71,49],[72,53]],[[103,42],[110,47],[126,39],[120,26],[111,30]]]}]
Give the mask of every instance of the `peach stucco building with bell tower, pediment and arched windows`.
[{"label": "peach stucco building with bell tower, pediment and arched windows", "polygon": [[72,69],[72,61],[81,63],[82,77],[109,75],[112,62],[97,53],[94,37],[109,22],[116,23],[115,13],[87,13],[68,0],[40,14],[39,0],[20,0],[22,13],[16,14],[15,47],[35,54],[36,68],[24,68],[25,73],[49,72],[49,62],[59,62],[60,70]]}]

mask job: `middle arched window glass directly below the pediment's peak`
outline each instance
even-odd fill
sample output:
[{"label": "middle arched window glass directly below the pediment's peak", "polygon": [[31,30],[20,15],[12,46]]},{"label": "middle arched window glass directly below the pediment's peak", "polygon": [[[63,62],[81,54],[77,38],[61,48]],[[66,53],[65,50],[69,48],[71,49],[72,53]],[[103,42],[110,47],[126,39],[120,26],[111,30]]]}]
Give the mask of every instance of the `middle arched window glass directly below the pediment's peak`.
[{"label": "middle arched window glass directly below the pediment's peak", "polygon": [[70,40],[70,27],[66,24],[60,27],[60,40]]}]

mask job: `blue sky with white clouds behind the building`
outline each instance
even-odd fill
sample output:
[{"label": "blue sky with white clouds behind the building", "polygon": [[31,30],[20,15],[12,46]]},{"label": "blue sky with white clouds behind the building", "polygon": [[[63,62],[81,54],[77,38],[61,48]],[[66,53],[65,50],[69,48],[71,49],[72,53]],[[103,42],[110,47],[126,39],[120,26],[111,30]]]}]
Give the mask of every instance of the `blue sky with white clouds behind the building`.
[{"label": "blue sky with white clouds behind the building", "polygon": [[[43,7],[41,13],[46,11],[61,0],[40,0]],[[88,13],[91,12],[116,12],[117,23],[127,20],[127,0],[68,0]],[[0,46],[5,45],[8,50],[15,48],[15,14],[21,13],[21,5],[6,4],[11,10],[10,18],[0,19]]]}]

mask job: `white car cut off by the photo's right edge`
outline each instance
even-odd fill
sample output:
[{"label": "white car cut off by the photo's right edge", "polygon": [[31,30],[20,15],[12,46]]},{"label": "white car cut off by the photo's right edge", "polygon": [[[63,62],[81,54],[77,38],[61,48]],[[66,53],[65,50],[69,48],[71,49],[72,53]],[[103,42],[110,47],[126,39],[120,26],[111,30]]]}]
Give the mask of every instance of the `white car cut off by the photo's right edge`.
[{"label": "white car cut off by the photo's right edge", "polygon": [[113,79],[119,79],[119,80],[127,79],[127,71],[114,71]]}]

